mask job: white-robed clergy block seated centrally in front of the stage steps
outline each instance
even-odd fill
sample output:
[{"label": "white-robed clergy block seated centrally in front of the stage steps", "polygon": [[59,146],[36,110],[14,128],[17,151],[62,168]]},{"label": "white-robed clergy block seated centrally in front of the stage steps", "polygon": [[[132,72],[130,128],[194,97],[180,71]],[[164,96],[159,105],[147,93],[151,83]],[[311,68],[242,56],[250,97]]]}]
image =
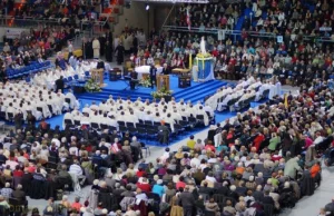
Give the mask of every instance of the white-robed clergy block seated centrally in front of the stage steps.
[{"label": "white-robed clergy block seated centrally in front of the stage steps", "polygon": [[114,100],[110,98],[108,101],[100,102],[99,105],[86,105],[82,112],[78,110],[67,112],[63,117],[62,127],[65,128],[66,119],[71,120],[72,124],[76,120],[80,121],[81,125],[95,122],[116,128],[118,128],[118,121],[129,122],[127,125],[136,127],[139,120],[151,121],[153,124],[164,120],[170,124],[170,128],[174,131],[174,125],[178,124],[179,120],[184,120],[184,118],[187,120],[188,117],[196,117],[197,115],[204,116],[204,122],[207,126],[209,117],[214,116],[214,110],[202,104],[193,106],[191,104],[176,102],[175,100],[166,104],[164,100],[160,102],[143,102],[138,99],[132,102],[130,100]]}]

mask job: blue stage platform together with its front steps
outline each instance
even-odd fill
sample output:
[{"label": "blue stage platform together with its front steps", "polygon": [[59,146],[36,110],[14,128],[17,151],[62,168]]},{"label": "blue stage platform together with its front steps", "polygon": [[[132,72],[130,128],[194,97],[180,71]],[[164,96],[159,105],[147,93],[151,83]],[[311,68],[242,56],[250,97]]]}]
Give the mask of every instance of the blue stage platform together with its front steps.
[{"label": "blue stage platform together with its front steps", "polygon": [[[191,87],[178,88],[177,76],[170,76],[169,80],[173,97],[175,97],[177,101],[184,99],[185,101],[190,100],[193,102],[197,102],[198,100],[203,101],[206,96],[215,94],[218,88],[229,84],[220,80],[209,80],[206,82],[191,81]],[[137,100],[138,97],[140,97],[141,100],[151,100],[153,97],[150,94],[156,90],[156,88],[151,89],[141,86],[137,87],[136,90],[130,90],[129,88],[125,90],[127,84],[124,80],[109,81],[105,79],[105,84],[106,87],[104,87],[100,92],[77,94],[76,97],[78,99],[101,101],[108,99],[109,96],[112,95],[114,98],[121,97],[122,99],[126,99],[127,97],[130,97],[132,101]]]}]

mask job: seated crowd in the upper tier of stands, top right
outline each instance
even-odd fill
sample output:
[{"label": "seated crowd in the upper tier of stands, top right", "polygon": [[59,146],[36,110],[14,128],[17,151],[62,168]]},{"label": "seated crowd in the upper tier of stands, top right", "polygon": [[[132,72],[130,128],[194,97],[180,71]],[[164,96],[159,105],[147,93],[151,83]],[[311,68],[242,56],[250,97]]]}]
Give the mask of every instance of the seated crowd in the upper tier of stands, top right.
[{"label": "seated crowd in the upper tier of stands, top right", "polygon": [[[331,35],[334,26],[333,4],[322,1],[278,2],[276,0],[250,0],[212,2],[208,4],[183,4],[174,24],[187,27],[187,12],[193,28],[245,30],[258,33],[276,33],[291,37],[293,41],[303,36],[334,39]],[[327,29],[325,29],[327,28]],[[243,37],[245,35],[243,33]],[[332,37],[332,38],[331,38]]]}]

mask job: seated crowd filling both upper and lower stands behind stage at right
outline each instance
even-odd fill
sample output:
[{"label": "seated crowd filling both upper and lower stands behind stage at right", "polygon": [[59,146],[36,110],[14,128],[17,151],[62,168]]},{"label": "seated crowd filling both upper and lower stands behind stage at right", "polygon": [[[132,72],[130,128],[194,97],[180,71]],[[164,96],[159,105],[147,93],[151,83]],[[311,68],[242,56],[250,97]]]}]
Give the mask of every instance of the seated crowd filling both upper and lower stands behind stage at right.
[{"label": "seated crowd filling both upper and lower stands behind stage at right", "polygon": [[[153,30],[147,46],[134,49],[131,60],[134,65],[138,65],[138,59],[145,59],[150,65],[153,59],[158,58],[161,65],[166,62],[170,68],[188,68],[189,53],[193,58],[196,57],[200,37],[206,36],[207,49],[215,57],[214,70],[217,78],[238,80],[246,73],[261,78],[276,75],[283,85],[310,85],[314,78],[326,80],[334,67],[333,45],[331,41],[320,42],[318,38],[327,37],[322,40],[331,40],[330,30],[325,28],[331,29],[334,23],[334,13],[330,12],[332,4],[326,0],[318,1],[315,6],[312,2],[307,2],[307,6],[303,3],[266,3],[263,0],[253,4],[190,4],[190,24],[199,30],[185,32],[173,28],[159,36]],[[311,12],[308,8],[314,10]],[[321,11],[322,8],[324,12]],[[254,23],[250,23],[249,14],[245,14],[244,10],[253,11]],[[179,9],[176,26],[187,26],[186,11],[186,6]],[[208,13],[205,14],[204,11]],[[233,23],[229,29],[234,29],[239,19],[243,20],[243,30],[236,37],[226,32],[225,39],[219,41],[215,39],[216,35],[203,32],[219,29],[219,26],[224,29],[228,23]],[[200,24],[200,21],[204,23]],[[128,29],[125,33],[132,31]],[[278,42],[276,37],[262,37],[263,32],[283,36],[283,41]],[[311,39],[303,38],[307,32]]]}]

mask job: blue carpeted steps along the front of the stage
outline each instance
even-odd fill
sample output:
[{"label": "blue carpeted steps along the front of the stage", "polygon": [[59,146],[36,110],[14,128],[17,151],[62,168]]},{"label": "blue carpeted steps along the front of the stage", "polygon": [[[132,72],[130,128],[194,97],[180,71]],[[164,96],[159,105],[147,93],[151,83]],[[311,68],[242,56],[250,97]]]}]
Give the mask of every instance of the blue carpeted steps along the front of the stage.
[{"label": "blue carpeted steps along the front of the stage", "polygon": [[[173,94],[173,97],[177,101],[180,99],[184,99],[185,101],[190,100],[193,104],[197,102],[198,100],[204,101],[204,98],[206,96],[214,95],[218,88],[222,88],[226,85],[233,85],[227,81],[219,81],[219,80],[210,80],[206,81],[189,88],[185,88],[181,91]],[[120,97],[121,99],[130,98],[131,101],[137,100],[138,97],[141,98],[141,101],[149,99],[151,101],[153,97],[149,92],[139,92],[139,91],[131,91],[131,90],[114,90],[114,89],[102,89],[101,92],[95,92],[95,94],[79,94],[76,95],[79,99],[88,99],[88,100],[107,100],[109,96],[112,95],[114,99],[117,99]]]}]

